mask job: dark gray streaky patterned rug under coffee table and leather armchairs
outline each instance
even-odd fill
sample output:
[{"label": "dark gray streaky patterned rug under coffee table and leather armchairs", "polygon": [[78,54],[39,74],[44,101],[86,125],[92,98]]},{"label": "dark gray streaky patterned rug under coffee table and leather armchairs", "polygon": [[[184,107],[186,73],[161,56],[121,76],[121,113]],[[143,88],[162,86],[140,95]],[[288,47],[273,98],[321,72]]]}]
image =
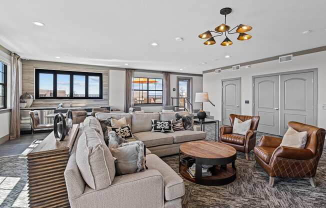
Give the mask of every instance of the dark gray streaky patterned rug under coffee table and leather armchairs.
[{"label": "dark gray streaky patterned rug under coffee table and leather armchairs", "polygon": [[[207,138],[214,140],[213,125],[206,125]],[[258,133],[257,142],[262,133]],[[237,153],[235,165],[237,178],[223,186],[203,186],[184,180],[184,208],[203,207],[326,207],[326,147],[319,160],[315,182],[311,187],[305,178],[276,178],[275,186],[269,187],[268,175],[254,167],[253,154],[250,160]],[[178,172],[178,156],[162,159]],[[28,207],[27,169],[24,156],[0,158],[0,207]]]}]

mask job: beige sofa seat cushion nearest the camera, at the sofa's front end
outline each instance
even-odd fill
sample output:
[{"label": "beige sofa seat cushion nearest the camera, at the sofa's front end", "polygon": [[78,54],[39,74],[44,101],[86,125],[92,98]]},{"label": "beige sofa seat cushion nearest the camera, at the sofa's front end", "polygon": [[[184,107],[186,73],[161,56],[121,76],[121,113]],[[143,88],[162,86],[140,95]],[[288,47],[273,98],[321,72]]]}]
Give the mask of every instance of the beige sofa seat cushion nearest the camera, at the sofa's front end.
[{"label": "beige sofa seat cushion nearest the camera, at the sofa's front end", "polygon": [[155,154],[146,156],[148,169],[156,169],[163,176],[164,198],[173,200],[184,195],[183,179]]}]

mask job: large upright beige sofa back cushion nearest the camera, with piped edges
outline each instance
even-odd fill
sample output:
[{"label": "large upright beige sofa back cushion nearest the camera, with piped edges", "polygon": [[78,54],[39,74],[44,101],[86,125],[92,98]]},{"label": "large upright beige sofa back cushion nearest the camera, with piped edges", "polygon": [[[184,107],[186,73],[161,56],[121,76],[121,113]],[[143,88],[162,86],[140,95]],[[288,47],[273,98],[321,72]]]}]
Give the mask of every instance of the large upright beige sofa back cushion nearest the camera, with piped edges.
[{"label": "large upright beige sofa back cushion nearest the camera, with piped edges", "polygon": [[114,158],[99,133],[92,128],[85,129],[78,139],[76,163],[82,178],[92,189],[111,185],[115,175]]}]

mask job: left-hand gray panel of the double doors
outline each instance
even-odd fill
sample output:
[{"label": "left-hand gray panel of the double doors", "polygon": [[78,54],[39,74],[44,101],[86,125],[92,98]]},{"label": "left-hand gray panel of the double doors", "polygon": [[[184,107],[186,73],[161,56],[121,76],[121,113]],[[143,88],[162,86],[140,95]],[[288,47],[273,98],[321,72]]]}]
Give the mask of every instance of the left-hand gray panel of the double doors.
[{"label": "left-hand gray panel of the double doors", "polygon": [[254,78],[253,91],[257,130],[279,135],[279,75]]}]

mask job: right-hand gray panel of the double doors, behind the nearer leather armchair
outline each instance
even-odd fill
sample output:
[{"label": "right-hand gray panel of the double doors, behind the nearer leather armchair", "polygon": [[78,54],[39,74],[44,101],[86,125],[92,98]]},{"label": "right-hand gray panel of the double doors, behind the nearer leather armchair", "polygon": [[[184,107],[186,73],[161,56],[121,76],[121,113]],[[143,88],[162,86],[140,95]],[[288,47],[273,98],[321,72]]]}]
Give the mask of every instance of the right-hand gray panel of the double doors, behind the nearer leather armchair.
[{"label": "right-hand gray panel of the double doors, behind the nearer leather armchair", "polygon": [[280,75],[280,135],[288,121],[316,125],[313,96],[313,72]]}]

